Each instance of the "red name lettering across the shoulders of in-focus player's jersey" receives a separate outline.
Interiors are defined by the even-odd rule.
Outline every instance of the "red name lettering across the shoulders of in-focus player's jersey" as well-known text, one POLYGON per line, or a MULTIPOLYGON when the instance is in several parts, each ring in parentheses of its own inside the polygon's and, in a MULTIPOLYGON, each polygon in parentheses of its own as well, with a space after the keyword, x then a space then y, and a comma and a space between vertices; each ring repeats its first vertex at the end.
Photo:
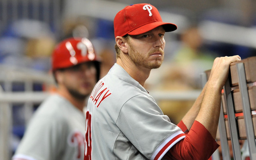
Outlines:
POLYGON ((94 105, 97 105, 96 108, 100 106, 101 102, 104 99, 106 99, 108 96, 112 94, 112 92, 109 93, 110 90, 108 90, 108 87, 104 88, 103 86, 104 82, 99 81, 92 90, 92 93, 90 95, 90 99, 92 100, 94 105))

